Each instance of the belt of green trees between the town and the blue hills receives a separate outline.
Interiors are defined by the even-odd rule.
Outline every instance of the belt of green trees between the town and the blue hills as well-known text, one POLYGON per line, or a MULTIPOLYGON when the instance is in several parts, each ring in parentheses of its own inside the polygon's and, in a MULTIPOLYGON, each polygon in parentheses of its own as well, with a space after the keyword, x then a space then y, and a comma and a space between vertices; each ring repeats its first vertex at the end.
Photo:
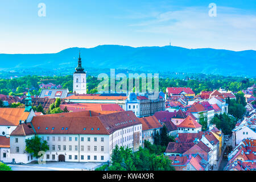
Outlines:
MULTIPOLYGON (((23 96, 23 93, 30 88, 32 95, 39 95, 40 89, 39 85, 42 84, 42 80, 52 80, 53 84, 62 85, 63 88, 68 88, 69 91, 73 90, 73 76, 23 76, 13 79, 0 79, 0 94, 12 95, 12 96, 23 96)), ((122 81, 122 80, 121 80, 122 81)), ((87 76, 87 93, 98 92, 97 86, 101 82, 97 77, 87 76)), ((116 84, 118 81, 115 81, 116 84)), ((128 78, 127 78, 127 88, 128 88, 128 78)), ((47 84, 48 82, 45 82, 47 84)), ((242 77, 225 77, 218 75, 202 75, 195 74, 190 78, 182 79, 175 77, 159 78, 159 89, 163 91, 167 87, 190 87, 196 93, 200 93, 203 90, 213 90, 220 87, 232 90, 233 92, 238 92, 239 90, 246 89, 255 83, 254 78, 242 78, 242 77)), ((110 78, 109 78, 110 84, 110 78)), ((154 81, 153 81, 154 85, 154 81)), ((141 87, 141 84, 140 84, 141 87)))

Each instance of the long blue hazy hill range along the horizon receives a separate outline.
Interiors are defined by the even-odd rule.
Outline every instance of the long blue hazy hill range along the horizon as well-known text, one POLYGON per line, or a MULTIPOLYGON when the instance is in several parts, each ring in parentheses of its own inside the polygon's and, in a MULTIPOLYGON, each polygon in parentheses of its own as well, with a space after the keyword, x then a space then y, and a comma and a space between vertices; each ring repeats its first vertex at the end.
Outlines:
POLYGON ((68 48, 58 53, 1 54, 0 69, 60 69, 77 66, 81 52, 86 68, 119 68, 145 72, 207 73, 224 76, 255 77, 256 51, 187 49, 175 46, 129 47, 104 45, 94 48, 68 48))

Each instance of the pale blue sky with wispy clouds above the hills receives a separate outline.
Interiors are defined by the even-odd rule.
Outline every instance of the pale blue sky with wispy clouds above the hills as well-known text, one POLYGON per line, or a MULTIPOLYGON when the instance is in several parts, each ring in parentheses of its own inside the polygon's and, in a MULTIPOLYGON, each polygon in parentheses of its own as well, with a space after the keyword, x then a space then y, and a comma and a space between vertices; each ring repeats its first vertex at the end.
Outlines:
POLYGON ((0 53, 170 42, 184 48, 256 50, 256 1, 0 0, 0 53))

